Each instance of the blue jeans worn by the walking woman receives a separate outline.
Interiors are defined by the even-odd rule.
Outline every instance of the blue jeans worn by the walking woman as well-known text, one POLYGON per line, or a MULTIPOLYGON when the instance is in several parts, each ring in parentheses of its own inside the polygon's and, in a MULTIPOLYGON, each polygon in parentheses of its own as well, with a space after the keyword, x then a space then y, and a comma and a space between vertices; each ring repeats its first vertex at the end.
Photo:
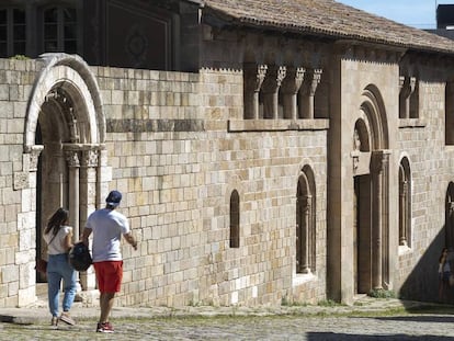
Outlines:
POLYGON ((49 254, 47 263, 47 295, 52 316, 58 316, 61 280, 64 280, 64 311, 69 311, 76 296, 76 271, 68 263, 68 254, 49 254))

